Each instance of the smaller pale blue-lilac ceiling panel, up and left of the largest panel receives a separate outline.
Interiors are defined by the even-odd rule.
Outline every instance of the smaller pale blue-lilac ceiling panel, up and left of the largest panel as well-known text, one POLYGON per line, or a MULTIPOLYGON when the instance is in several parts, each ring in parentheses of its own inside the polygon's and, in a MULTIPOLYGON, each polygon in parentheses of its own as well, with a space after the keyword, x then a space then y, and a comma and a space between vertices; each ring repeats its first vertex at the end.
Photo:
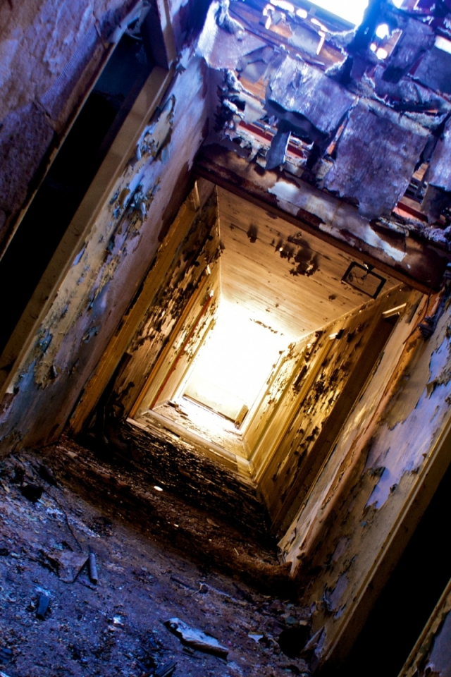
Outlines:
POLYGON ((354 103, 354 96, 319 68, 290 56, 271 78, 266 99, 285 111, 304 116, 326 135, 338 128, 354 103))

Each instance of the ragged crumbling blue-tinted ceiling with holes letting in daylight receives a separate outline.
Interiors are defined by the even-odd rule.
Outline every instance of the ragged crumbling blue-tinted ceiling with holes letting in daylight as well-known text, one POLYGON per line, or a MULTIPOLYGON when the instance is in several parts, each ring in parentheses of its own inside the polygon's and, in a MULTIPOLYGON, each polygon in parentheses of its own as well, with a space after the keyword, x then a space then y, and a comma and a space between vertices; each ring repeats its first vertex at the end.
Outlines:
MULTIPOLYGON (((216 73, 210 76, 211 90, 217 92, 216 128, 209 135, 212 146, 204 152, 208 159, 198 166, 233 182, 230 173, 221 172, 226 164, 248 194, 270 204, 276 196, 273 204, 304 216, 338 240, 338 246, 346 242, 394 262, 423 282, 424 291, 438 289, 449 258, 449 224, 438 219, 449 196, 443 150, 434 148, 437 142, 447 147, 446 133, 444 142, 441 135, 451 107, 438 85, 418 83, 414 66, 440 50, 433 47, 434 31, 422 16, 414 18, 386 3, 371 6, 374 16, 364 20, 357 34, 329 26, 324 49, 312 59, 307 42, 297 41, 294 47, 287 40, 287 32, 299 25, 311 30, 309 20, 303 24, 289 8, 270 11, 257 1, 233 3, 231 16, 241 23, 225 31, 217 25, 218 3, 212 4, 197 49, 216 73), (401 35, 386 61, 369 48, 383 21, 401 35), (366 37, 357 48, 359 32, 366 37), (354 63, 349 76, 348 63, 354 63), (226 151, 242 161, 225 160, 226 151), (213 158, 219 165, 215 169, 209 166, 213 158), (428 191, 422 204, 409 201, 404 195, 409 183, 416 169, 428 163, 426 181, 442 188, 428 191), (262 175, 263 169, 264 193, 259 193, 249 181, 258 184, 256 173, 262 175)), ((447 32, 443 21, 436 26, 440 35, 447 32)))

